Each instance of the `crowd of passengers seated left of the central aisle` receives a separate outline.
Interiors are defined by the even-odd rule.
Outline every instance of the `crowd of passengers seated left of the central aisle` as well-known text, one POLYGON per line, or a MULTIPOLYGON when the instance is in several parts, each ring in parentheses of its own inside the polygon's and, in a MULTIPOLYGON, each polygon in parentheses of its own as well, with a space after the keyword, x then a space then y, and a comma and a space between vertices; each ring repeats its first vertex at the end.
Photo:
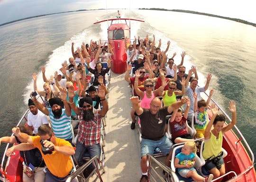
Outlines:
MULTIPOLYGON (((20 150, 23 182, 65 182, 74 172, 71 156, 78 166, 86 162, 85 153, 91 158, 101 156, 101 119, 109 110, 105 75, 113 55, 112 48, 106 45, 91 41, 90 46, 82 43, 74 49, 72 43, 69 62, 64 61, 49 78, 46 67, 41 68, 42 88, 37 87, 37 74, 32 75, 34 92, 28 100, 27 124, 13 128, 14 136, 0 138, 0 143, 18 143, 6 155, 20 150), (43 103, 40 97, 37 100, 39 95, 43 103), (79 120, 77 137, 72 120, 79 120)), ((84 176, 92 170, 93 164, 85 169, 84 176)))

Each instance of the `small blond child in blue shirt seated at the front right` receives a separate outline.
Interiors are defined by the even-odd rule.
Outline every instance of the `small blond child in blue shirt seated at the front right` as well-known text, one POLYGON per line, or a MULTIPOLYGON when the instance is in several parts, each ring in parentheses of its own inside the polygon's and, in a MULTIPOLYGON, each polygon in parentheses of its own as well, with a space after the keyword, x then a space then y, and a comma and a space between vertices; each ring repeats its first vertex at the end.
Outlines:
POLYGON ((182 147, 181 152, 175 156, 174 166, 178 168, 178 173, 184 178, 192 177, 193 180, 197 182, 211 182, 213 174, 204 178, 199 175, 193 167, 195 163, 195 151, 195 142, 187 141, 182 147))

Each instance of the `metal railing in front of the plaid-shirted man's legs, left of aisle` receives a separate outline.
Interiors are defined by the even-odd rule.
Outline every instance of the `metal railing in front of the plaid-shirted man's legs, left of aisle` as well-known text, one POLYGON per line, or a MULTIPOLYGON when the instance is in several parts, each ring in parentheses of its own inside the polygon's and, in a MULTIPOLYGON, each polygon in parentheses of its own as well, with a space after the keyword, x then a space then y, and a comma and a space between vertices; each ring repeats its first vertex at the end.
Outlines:
MULTIPOLYGON (((82 165, 81 167, 79 167, 74 173, 72 173, 67 179, 66 182, 71 182, 74 178, 80 178, 78 179, 79 182, 88 182, 90 177, 92 176, 92 174, 96 171, 97 175, 95 177, 95 179, 93 180, 93 182, 96 182, 98 179, 100 179, 101 182, 103 182, 102 178, 101 178, 101 173, 100 173, 100 159, 98 156, 94 156, 92 157, 87 163, 85 163, 84 165, 82 165), (91 174, 85 178, 83 176, 83 171, 91 164, 94 164, 94 170, 91 172, 91 174)), ((91 180, 91 179, 90 179, 91 180)))

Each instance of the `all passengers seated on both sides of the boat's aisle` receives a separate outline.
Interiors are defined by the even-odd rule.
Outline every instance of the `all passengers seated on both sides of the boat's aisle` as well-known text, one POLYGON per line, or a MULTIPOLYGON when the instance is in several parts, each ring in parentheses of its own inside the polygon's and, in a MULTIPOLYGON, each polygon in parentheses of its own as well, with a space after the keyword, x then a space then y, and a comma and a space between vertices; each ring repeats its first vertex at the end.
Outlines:
MULTIPOLYGON (((134 95, 130 98, 130 127, 135 129, 138 116, 142 135, 140 182, 148 181, 147 153, 153 154, 158 147, 162 154, 168 155, 166 165, 170 166, 171 147, 174 143, 181 142, 186 143, 174 161, 181 176, 192 177, 198 182, 210 182, 223 175, 225 165, 219 154, 223 133, 236 123, 234 101, 229 102, 229 110, 233 115, 229 125, 223 127, 225 117, 218 114, 214 104, 210 107, 212 116, 209 121, 207 109, 213 90, 210 90, 207 101, 201 99, 200 93, 208 89, 210 74, 205 86, 197 87, 196 67, 192 66, 188 74, 185 73, 183 61, 186 53, 182 52, 180 63, 175 64, 176 53, 169 59, 166 55, 170 42, 167 42, 165 51, 161 51, 161 39, 156 47, 154 35, 152 41, 146 36, 144 40, 135 37, 132 43, 125 39, 125 43, 125 80, 133 88, 134 95), (186 125, 187 122, 191 126, 193 114, 197 131, 195 138, 204 137, 205 141, 204 159, 220 157, 218 163, 215 163, 215 160, 207 160, 210 162, 206 167, 211 173, 208 177, 200 176, 193 167, 197 150, 186 125), (167 115, 171 117, 166 119, 167 115), (167 124, 170 125, 172 141, 165 136, 167 124)), ((105 75, 110 70, 112 50, 113 47, 107 42, 102 45, 101 41, 98 44, 91 41, 90 45, 82 43, 81 47, 76 49, 72 43, 73 57, 69 58, 69 62, 65 61, 60 65, 60 69, 52 73, 52 76, 47 78, 46 68, 41 68, 45 82, 43 88, 37 88, 37 74, 32 75, 35 92, 31 93, 31 99, 28 100, 30 113, 27 125, 13 128, 12 137, 0 138, 0 142, 19 143, 10 147, 6 154, 10 156, 14 150, 20 150, 24 159, 23 182, 64 182, 74 171, 70 156, 75 156, 79 166, 85 163, 82 158, 86 152, 90 157, 101 156, 101 119, 109 109, 106 100, 108 80, 105 75), (107 65, 105 68, 103 63, 107 65), (91 75, 94 79, 90 83, 91 75), (43 97, 43 104, 37 101, 36 96, 32 96, 35 93, 43 97), (71 120, 80 121, 76 140, 71 120), (44 147, 53 147, 53 151, 46 154, 44 147), (31 169, 32 175, 29 174, 31 169)), ((93 169, 93 165, 86 168, 85 176, 93 169)))

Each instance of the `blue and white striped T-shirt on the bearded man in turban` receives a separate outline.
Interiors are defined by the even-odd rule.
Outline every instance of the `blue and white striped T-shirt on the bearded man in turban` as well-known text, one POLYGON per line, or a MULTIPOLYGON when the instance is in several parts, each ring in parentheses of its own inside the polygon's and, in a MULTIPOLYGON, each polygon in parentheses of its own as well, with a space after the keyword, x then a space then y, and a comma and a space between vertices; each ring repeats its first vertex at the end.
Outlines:
POLYGON ((62 109, 60 118, 55 118, 52 109, 49 109, 51 127, 55 137, 60 139, 72 139, 72 125, 70 116, 66 115, 65 109, 62 109))

